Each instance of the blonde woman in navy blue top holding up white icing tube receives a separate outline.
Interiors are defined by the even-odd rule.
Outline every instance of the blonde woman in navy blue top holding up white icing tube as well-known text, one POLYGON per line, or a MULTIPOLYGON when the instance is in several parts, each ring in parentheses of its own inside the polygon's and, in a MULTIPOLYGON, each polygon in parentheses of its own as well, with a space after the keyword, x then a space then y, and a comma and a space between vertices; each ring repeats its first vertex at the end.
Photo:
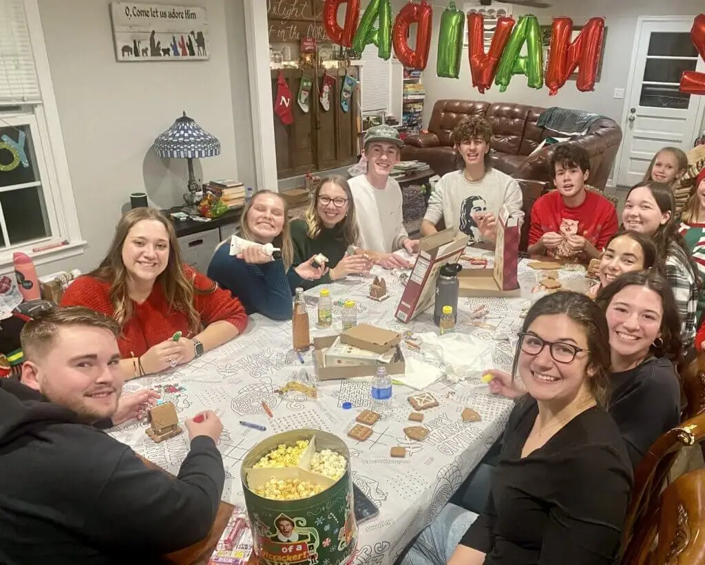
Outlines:
POLYGON ((286 201, 271 190, 256 192, 243 208, 238 235, 262 245, 271 243, 281 252, 268 255, 262 245, 252 245, 233 256, 228 239, 216 247, 208 276, 238 297, 248 315, 259 312, 272 320, 290 320, 293 287, 289 280, 321 278, 325 268, 314 266, 312 256, 291 266, 293 246, 286 201))

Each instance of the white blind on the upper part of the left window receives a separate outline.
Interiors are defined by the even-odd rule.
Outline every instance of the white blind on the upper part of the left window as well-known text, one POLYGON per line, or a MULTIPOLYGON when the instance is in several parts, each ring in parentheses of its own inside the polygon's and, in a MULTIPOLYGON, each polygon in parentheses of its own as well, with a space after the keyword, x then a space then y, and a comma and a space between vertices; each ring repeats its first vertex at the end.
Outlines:
POLYGON ((24 0, 0 0, 0 104, 41 98, 24 0))

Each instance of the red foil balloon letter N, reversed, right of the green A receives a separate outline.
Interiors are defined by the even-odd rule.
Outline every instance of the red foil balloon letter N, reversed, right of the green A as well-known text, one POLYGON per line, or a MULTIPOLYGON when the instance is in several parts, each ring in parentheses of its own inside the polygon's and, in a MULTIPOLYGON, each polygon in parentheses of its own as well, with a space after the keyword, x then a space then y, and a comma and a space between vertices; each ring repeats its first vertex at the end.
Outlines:
POLYGON ((551 47, 548 53, 548 68, 546 68, 546 86, 551 96, 565 85, 565 81, 575 72, 575 68, 578 68, 578 90, 589 92, 595 87, 602 39, 605 35, 605 20, 591 18, 572 43, 570 42, 571 30, 570 18, 553 19, 551 47))

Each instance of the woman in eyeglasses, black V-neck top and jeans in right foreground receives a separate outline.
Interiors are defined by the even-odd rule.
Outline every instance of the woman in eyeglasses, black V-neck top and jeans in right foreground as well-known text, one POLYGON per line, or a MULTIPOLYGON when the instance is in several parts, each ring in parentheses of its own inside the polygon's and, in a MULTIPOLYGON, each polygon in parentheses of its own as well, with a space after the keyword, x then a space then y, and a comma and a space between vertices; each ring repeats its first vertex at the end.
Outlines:
POLYGON ((605 409, 609 366, 608 325, 591 299, 539 299, 512 371, 527 395, 509 416, 484 511, 446 505, 402 563, 613 564, 632 466, 605 409))

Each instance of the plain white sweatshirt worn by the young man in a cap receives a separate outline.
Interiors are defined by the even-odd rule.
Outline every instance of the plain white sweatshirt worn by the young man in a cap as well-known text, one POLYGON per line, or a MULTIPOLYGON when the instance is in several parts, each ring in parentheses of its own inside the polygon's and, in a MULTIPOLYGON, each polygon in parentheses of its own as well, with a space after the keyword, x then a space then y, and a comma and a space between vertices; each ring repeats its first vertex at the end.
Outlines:
POLYGON ((348 180, 355 200, 360 247, 370 251, 391 253, 409 237, 404 228, 402 195, 399 183, 387 179, 383 189, 369 184, 366 175, 348 180))

